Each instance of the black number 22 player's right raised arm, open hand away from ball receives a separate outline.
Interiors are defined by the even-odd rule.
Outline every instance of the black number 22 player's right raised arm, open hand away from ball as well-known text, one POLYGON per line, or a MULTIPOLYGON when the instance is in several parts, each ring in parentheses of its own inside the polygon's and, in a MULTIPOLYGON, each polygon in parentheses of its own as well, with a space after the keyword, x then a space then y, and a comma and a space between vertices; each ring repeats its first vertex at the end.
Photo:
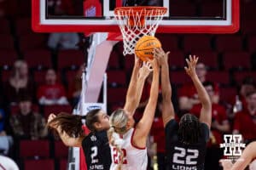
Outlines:
POLYGON ((195 73, 195 65, 197 60, 198 57, 195 57, 195 55, 193 58, 191 55, 189 55, 189 59, 186 59, 188 67, 185 67, 185 71, 193 81, 199 100, 201 101, 200 121, 206 123, 210 129, 212 122, 212 104, 206 89, 203 87, 201 81, 195 73))

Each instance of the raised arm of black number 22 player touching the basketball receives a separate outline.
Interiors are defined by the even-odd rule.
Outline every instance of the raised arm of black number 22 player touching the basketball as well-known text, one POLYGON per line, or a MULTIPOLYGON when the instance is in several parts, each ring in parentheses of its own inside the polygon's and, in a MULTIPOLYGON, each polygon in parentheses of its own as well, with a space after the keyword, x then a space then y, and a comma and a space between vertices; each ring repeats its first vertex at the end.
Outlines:
POLYGON ((168 54, 165 53, 162 48, 155 49, 156 59, 160 64, 160 75, 161 75, 161 89, 163 97, 163 108, 162 118, 164 126, 166 127, 167 122, 175 118, 175 113, 172 105, 172 87, 169 77, 169 65, 168 65, 168 54))

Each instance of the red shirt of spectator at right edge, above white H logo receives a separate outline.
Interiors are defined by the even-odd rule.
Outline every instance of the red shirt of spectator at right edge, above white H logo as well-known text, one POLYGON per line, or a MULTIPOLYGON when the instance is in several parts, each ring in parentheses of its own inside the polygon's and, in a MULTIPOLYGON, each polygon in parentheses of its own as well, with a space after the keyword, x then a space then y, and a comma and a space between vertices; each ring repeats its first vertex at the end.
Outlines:
POLYGON ((243 139, 256 139, 256 112, 250 115, 247 109, 236 113, 234 120, 234 130, 241 133, 243 139))

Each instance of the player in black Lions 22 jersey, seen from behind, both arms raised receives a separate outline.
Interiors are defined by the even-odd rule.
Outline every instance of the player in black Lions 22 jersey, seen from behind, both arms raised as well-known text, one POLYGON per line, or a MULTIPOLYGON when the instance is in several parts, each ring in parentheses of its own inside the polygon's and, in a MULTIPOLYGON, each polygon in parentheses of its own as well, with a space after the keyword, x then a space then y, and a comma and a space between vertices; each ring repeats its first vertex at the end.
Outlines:
POLYGON ((162 118, 166 131, 166 161, 172 170, 202 170, 206 156, 207 140, 212 121, 212 105, 207 91, 195 73, 198 60, 195 56, 186 59, 185 71, 193 81, 202 109, 200 119, 187 113, 180 122, 175 120, 172 105, 172 88, 169 78, 168 54, 156 49, 156 56, 161 65, 162 118))

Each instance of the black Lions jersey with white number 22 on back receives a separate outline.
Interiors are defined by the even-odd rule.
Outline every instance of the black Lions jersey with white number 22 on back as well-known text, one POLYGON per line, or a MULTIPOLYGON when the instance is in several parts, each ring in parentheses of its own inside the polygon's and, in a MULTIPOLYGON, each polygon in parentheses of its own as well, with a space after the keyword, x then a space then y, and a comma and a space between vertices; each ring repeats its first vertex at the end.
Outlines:
POLYGON ((172 119, 166 124, 166 151, 168 170, 203 170, 209 139, 207 124, 201 123, 201 139, 197 144, 178 141, 178 123, 172 119))

